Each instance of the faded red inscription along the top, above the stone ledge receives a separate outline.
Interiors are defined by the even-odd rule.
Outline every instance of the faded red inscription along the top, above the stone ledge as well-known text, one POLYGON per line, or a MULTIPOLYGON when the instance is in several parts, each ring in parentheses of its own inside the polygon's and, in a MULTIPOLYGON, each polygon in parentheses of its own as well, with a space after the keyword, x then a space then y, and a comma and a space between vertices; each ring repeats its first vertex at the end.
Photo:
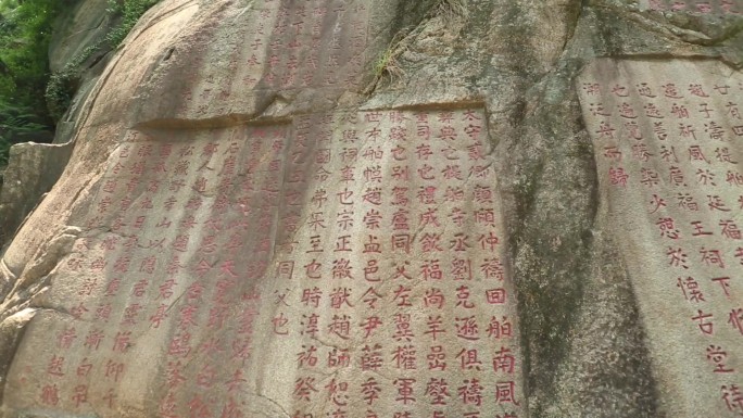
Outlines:
POLYGON ((370 8, 362 0, 252 2, 245 13, 254 18, 236 21, 240 29, 230 28, 224 43, 196 38, 182 47, 198 50, 178 63, 176 79, 189 81, 174 84, 175 105, 158 109, 158 117, 174 110, 191 117, 241 113, 266 91, 354 89, 365 68, 370 8), (225 65, 210 64, 215 60, 225 65), (244 89, 253 93, 234 94, 244 89))

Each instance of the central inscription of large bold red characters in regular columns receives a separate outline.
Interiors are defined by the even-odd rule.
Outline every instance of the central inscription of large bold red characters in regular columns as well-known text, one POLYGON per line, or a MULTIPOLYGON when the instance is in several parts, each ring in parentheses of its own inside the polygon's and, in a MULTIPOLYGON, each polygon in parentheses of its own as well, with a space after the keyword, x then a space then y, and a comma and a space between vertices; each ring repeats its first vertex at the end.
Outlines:
POLYGON ((520 416, 489 147, 479 109, 298 119, 270 329, 293 416, 520 416))

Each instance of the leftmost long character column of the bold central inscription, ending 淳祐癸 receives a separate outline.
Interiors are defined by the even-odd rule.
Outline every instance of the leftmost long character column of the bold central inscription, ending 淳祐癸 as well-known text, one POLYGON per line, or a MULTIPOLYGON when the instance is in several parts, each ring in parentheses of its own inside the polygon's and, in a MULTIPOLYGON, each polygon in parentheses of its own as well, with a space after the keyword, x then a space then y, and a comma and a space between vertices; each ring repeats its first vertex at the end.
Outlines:
MULTIPOLYGON (((292 166, 288 176, 302 176, 305 180, 297 181, 295 187, 304 183, 314 185, 302 192, 300 202, 303 202, 304 211, 299 235, 294 231, 291 245, 299 243, 295 253, 297 274, 295 278, 301 286, 298 295, 292 297, 295 328, 299 332, 300 342, 294 353, 297 367, 300 370, 294 381, 292 397, 301 408, 298 416, 319 416, 315 409, 324 398, 324 384, 322 380, 328 375, 326 363, 326 344, 318 341, 327 340, 328 305, 326 304, 330 281, 328 280, 329 258, 332 254, 331 244, 333 237, 332 219, 330 214, 335 204, 332 195, 333 175, 337 165, 333 162, 330 130, 332 117, 324 114, 305 115, 295 123, 294 143, 292 144, 292 166)), ((290 180, 291 181, 291 180, 290 180)), ((297 207, 299 210, 299 207, 297 207)), ((335 344, 333 344, 335 345, 335 344)), ((338 350, 338 349, 336 349, 338 350)), ((326 387, 327 388, 327 387, 326 387)), ((329 407, 337 407, 332 405, 329 407)))

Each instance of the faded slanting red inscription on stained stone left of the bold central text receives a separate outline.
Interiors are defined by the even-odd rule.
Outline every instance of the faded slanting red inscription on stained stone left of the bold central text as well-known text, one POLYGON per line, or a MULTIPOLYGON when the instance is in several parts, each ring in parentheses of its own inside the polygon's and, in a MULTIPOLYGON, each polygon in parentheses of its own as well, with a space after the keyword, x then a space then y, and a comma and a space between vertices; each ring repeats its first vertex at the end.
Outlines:
POLYGON ((228 408, 252 356, 288 134, 131 132, 54 273, 47 304, 64 316, 43 312, 29 330, 48 351, 14 363, 11 404, 111 417, 228 408), (139 410, 144 396, 162 404, 139 410))

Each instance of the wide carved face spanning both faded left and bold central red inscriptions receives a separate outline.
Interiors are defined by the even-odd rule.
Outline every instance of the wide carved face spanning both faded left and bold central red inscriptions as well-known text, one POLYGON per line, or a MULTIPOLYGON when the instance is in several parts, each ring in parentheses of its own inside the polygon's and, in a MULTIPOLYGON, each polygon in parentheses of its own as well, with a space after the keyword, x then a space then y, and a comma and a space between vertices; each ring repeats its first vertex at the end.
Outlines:
POLYGON ((8 404, 524 416, 489 153, 477 107, 131 132, 52 274, 54 309, 24 339, 8 404))

